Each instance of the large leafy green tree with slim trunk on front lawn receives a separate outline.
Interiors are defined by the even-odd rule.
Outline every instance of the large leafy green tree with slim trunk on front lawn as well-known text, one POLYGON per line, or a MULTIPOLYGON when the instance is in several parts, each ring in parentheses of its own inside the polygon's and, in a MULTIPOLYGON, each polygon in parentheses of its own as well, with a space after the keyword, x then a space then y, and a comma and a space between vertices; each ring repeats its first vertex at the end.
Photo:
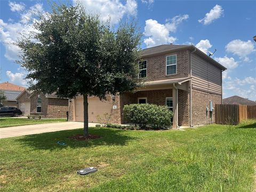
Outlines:
POLYGON ((28 70, 29 89, 58 97, 84 98, 84 136, 88 135, 87 97, 131 91, 139 85, 141 33, 134 22, 110 27, 82 6, 53 5, 36 29, 17 42, 19 63, 28 70))

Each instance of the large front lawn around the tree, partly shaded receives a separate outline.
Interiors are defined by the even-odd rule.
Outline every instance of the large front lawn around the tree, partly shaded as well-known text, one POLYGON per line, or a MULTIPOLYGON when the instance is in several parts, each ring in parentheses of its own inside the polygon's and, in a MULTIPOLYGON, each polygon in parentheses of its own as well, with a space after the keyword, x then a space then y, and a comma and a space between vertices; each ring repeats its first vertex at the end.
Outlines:
POLYGON ((2 191, 253 191, 256 121, 185 131, 92 127, 0 140, 2 191), (64 141, 66 146, 57 145, 64 141), (98 171, 77 175, 94 166, 98 171))

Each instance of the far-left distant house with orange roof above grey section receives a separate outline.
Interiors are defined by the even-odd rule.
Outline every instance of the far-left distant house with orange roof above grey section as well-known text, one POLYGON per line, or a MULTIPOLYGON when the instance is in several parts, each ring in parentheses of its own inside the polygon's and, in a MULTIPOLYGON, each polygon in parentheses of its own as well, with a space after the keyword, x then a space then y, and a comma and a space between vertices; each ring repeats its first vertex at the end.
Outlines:
POLYGON ((0 90, 4 91, 7 98, 3 105, 6 107, 18 107, 16 98, 25 89, 25 87, 9 82, 0 83, 0 90))

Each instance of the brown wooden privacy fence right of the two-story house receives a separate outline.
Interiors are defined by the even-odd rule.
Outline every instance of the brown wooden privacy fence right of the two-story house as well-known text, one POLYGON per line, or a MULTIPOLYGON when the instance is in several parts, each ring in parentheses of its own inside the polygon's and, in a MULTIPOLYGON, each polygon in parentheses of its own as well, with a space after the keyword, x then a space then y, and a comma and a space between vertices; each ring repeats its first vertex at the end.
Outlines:
POLYGON ((256 105, 215 105, 215 123, 237 125, 245 119, 256 119, 256 105))

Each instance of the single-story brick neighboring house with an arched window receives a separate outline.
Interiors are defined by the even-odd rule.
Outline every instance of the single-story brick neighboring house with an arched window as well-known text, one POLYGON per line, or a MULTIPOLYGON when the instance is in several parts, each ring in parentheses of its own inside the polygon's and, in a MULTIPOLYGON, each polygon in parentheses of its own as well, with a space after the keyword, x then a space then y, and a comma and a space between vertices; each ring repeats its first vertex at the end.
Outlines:
POLYGON ((55 94, 42 94, 24 90, 18 97, 18 108, 23 116, 41 115, 45 118, 65 118, 68 99, 58 98, 55 94))

